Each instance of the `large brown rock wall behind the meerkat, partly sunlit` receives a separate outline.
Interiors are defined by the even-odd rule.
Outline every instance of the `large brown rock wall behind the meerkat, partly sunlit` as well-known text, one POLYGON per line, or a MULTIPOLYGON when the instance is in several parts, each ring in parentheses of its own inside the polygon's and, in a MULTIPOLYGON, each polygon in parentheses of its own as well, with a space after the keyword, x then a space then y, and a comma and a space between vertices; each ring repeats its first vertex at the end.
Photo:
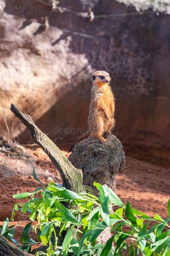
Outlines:
MULTIPOLYGON (((95 15, 136 12, 124 3, 74 0, 68 6, 62 0, 60 6, 87 12, 90 5, 95 15)), ((70 144, 87 129, 91 74, 104 69, 112 76, 115 134, 123 144, 169 145, 169 15, 90 22, 33 0, 0 0, 0 11, 0 135, 5 114, 13 137, 30 138, 9 111, 14 103, 58 145, 70 144), (40 24, 45 16, 47 30, 40 24)))

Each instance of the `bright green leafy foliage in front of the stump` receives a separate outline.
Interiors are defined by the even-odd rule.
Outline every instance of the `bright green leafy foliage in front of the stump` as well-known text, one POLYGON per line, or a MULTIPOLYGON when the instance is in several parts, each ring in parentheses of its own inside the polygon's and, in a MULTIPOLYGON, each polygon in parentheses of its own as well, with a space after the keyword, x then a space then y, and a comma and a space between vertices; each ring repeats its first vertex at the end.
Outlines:
MULTIPOLYGON (((36 176, 35 170, 33 172, 36 176)), ((39 180, 38 180, 39 181, 39 180)), ((14 198, 27 198, 26 203, 15 204, 15 211, 29 213, 31 220, 23 229, 21 245, 14 239, 15 226, 8 228, 8 218, 4 221, 1 234, 12 240, 21 250, 30 251, 35 243, 29 238, 31 226, 37 238, 48 245, 47 253, 37 255, 122 255, 129 256, 166 256, 170 251, 170 217, 162 219, 158 214, 154 218, 133 209, 129 202, 126 206, 121 199, 107 186, 94 183, 99 190, 99 197, 88 193, 76 194, 53 182, 48 187, 40 187, 33 193, 16 194, 14 198), (66 205, 70 205, 68 210, 66 205), (37 224, 32 224, 36 220, 37 224), (56 227, 66 231, 62 246, 57 246, 56 227), (112 237, 105 243, 96 243, 103 230, 110 230, 112 237), (76 232, 75 232, 76 230, 76 232), (55 237, 52 244, 51 235, 55 237), (129 241, 127 243, 127 241, 129 241), (113 247, 113 242, 115 248, 113 247), (127 255, 127 253, 126 253, 127 255)), ((168 203, 170 216, 170 201, 168 203)))

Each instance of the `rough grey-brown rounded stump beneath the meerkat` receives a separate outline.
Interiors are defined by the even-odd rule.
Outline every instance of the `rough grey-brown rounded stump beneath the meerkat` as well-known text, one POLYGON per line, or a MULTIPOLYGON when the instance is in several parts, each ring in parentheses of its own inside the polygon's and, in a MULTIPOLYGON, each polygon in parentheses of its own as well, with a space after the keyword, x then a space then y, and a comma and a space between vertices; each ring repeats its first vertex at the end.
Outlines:
POLYGON ((94 181, 101 185, 107 184, 115 191, 115 173, 124 169, 125 153, 121 142, 114 135, 110 134, 104 144, 89 136, 75 145, 69 161, 82 170, 84 185, 93 188, 98 196, 94 181))

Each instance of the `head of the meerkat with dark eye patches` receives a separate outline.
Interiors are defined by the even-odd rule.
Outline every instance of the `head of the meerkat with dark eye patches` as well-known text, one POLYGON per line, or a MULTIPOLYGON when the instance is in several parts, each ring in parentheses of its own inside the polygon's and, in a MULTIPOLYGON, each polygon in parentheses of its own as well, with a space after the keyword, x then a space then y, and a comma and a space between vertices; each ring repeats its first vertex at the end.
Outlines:
POLYGON ((98 87, 104 84, 108 84, 111 80, 109 73, 103 70, 95 71, 93 73, 92 79, 93 79, 93 84, 98 87))

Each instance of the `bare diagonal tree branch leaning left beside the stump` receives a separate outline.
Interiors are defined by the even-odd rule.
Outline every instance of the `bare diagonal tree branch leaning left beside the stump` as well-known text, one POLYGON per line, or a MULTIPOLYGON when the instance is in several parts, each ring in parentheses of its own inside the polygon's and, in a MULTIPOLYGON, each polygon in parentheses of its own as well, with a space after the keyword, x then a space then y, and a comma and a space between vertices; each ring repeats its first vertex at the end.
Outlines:
POLYGON ((48 136, 35 125, 32 118, 28 114, 23 114, 14 104, 11 104, 10 110, 23 122, 25 126, 27 126, 33 139, 56 166, 63 180, 63 187, 76 193, 80 193, 83 186, 82 171, 76 169, 70 163, 70 161, 63 155, 52 140, 50 140, 48 136))

